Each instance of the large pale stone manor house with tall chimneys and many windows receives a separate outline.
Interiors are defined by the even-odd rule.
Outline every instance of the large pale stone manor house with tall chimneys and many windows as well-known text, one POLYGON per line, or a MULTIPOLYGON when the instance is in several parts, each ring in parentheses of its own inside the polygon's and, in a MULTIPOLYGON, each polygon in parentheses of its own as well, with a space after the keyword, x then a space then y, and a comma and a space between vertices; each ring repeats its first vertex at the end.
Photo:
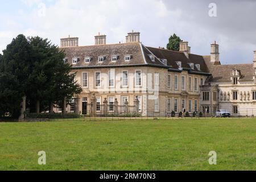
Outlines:
POLYGON ((210 56, 192 54, 188 42, 180 43, 179 52, 147 47, 139 32, 118 44, 106 44, 100 34, 94 46, 79 46, 79 38, 61 39, 64 61, 82 87, 67 111, 90 114, 95 101, 98 114, 106 105, 110 113, 136 107, 142 115, 218 109, 238 114, 244 108, 256 113, 255 52, 254 64, 221 65, 218 44, 211 47, 210 56))

